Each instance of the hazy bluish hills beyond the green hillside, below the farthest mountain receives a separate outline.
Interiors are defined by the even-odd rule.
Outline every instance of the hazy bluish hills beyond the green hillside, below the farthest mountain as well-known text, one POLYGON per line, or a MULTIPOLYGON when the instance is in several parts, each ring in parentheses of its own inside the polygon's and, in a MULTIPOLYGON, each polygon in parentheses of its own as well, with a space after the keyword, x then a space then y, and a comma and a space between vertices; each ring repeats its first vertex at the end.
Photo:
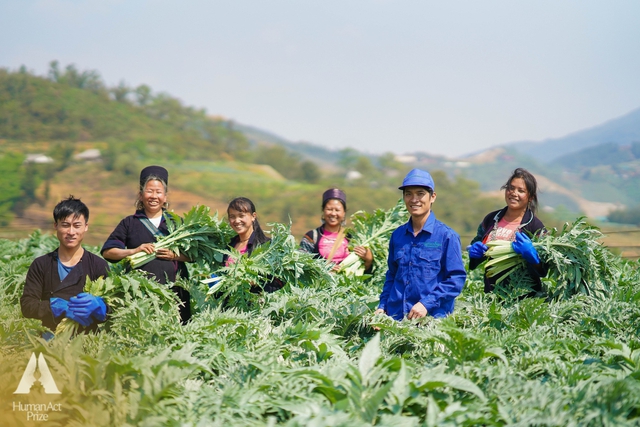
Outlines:
MULTIPOLYGON (((623 122, 627 123, 626 120, 623 122)), ((329 164, 324 167, 335 167, 341 158, 340 152, 311 143, 291 142, 244 125, 239 125, 238 129, 247 132, 250 141, 285 146, 303 157, 329 164)), ((588 145, 548 163, 523 153, 512 144, 498 145, 458 159, 424 152, 407 153, 401 158, 407 168, 439 169, 452 178, 461 176, 476 181, 483 192, 494 196, 515 168, 524 167, 538 177, 541 205, 549 211, 566 212, 562 215, 567 217, 583 213, 604 219, 610 212, 633 207, 640 201, 638 142, 630 145, 596 142, 596 145, 588 145)))

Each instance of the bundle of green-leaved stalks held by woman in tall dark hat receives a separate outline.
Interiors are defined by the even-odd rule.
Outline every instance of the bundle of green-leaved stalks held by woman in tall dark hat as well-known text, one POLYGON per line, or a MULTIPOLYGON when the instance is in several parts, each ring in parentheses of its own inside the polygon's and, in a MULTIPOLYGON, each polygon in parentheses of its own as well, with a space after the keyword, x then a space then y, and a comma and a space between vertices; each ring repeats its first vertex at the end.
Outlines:
MULTIPOLYGON (((201 264, 220 263, 222 255, 219 249, 226 248, 233 236, 228 223, 218 219, 218 213, 209 215, 204 205, 194 206, 180 218, 173 212, 164 213, 167 218, 169 235, 160 237, 154 244, 155 249, 170 249, 176 255, 201 264)), ((155 259, 155 253, 138 252, 127 257, 132 268, 138 268, 155 259)))

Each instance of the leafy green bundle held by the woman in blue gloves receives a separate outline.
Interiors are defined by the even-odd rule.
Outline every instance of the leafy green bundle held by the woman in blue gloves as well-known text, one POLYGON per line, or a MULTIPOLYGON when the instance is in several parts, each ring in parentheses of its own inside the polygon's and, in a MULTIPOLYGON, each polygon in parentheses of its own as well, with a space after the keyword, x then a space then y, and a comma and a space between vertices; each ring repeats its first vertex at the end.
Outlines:
MULTIPOLYGON (((543 291, 549 299, 567 299, 575 294, 608 295, 620 277, 620 258, 599 240, 600 229, 579 217, 562 230, 533 236, 533 246, 548 267, 542 278, 543 291)), ((522 257, 510 242, 497 242, 487 251, 487 276, 502 274, 496 283, 498 293, 519 289, 520 294, 532 290, 533 279, 522 257), (508 279, 508 280, 506 280, 508 279)))

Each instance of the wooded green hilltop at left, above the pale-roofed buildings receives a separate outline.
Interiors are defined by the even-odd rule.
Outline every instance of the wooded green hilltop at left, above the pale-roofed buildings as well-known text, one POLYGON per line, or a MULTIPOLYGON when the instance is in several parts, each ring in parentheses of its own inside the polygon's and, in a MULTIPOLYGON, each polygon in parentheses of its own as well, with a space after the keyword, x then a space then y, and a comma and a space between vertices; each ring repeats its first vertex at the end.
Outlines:
MULTIPOLYGON (((57 61, 46 78, 24 66, 17 72, 0 69, 0 139, 104 141, 106 168, 125 174, 135 170, 136 159, 270 164, 283 154, 279 147, 253 149, 232 121, 210 117, 148 85, 107 87, 97 71, 80 71, 73 64, 61 69, 57 61)), ((284 154, 286 167, 276 169, 285 177, 317 179, 313 162, 284 154)))

